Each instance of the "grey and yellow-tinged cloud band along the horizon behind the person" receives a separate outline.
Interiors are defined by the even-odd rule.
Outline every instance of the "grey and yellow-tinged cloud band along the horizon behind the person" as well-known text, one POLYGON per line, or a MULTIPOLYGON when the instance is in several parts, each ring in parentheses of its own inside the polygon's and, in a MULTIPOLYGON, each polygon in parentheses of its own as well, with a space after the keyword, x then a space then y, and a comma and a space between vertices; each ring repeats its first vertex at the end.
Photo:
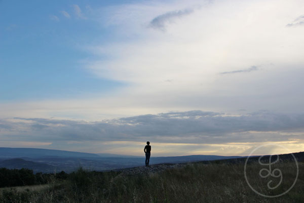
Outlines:
POLYGON ((102 121, 43 118, 0 119, 2 146, 141 155, 247 155, 254 146, 277 143, 301 151, 304 114, 185 111, 102 121), (31 145, 31 143, 34 143, 31 145), (174 152, 174 153, 173 153, 174 152))

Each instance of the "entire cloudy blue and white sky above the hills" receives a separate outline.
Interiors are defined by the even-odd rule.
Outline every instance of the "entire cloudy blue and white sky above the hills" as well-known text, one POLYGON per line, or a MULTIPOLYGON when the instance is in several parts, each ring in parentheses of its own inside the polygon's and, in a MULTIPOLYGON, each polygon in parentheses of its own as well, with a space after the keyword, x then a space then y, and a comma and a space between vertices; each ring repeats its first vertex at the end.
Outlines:
POLYGON ((0 147, 304 151, 304 2, 0 0, 0 147))

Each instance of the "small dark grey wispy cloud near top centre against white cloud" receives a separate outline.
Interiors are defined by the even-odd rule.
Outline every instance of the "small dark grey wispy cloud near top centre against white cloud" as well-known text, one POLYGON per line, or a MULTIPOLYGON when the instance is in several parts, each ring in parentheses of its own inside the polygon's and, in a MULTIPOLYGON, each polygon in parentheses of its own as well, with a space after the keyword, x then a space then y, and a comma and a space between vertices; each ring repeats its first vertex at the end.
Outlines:
POLYGON ((173 23, 175 19, 193 13, 193 9, 184 9, 178 11, 171 11, 163 15, 155 17, 150 21, 149 26, 155 29, 165 30, 166 24, 173 23))

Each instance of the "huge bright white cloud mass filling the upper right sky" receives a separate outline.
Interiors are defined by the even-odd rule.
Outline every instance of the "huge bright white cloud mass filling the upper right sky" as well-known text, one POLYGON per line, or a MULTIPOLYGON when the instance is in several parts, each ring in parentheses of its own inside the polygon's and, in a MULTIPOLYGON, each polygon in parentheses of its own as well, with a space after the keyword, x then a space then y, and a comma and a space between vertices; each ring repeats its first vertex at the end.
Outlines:
POLYGON ((180 20, 173 19, 176 24, 166 26, 166 22, 166 32, 147 29, 147 24, 198 1, 133 1, 92 7, 90 19, 107 34, 95 30, 84 38, 86 43, 78 40, 78 48, 88 53, 80 65, 94 77, 120 81, 124 86, 110 93, 73 95, 74 99, 2 103, 0 117, 94 121, 193 109, 304 112, 304 29, 285 27, 290 16, 303 12, 299 2, 214 1, 180 20), (274 65, 267 65, 271 62, 274 65), (254 64, 263 64, 263 71, 219 74, 254 64))

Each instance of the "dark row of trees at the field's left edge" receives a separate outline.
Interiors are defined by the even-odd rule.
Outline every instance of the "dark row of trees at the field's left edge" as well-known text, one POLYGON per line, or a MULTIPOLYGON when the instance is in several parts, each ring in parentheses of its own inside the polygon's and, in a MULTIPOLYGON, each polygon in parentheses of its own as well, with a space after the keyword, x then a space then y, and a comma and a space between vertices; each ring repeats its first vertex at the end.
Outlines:
POLYGON ((27 168, 0 168, 0 187, 47 184, 52 180, 65 180, 68 174, 64 171, 56 174, 33 173, 27 168))

